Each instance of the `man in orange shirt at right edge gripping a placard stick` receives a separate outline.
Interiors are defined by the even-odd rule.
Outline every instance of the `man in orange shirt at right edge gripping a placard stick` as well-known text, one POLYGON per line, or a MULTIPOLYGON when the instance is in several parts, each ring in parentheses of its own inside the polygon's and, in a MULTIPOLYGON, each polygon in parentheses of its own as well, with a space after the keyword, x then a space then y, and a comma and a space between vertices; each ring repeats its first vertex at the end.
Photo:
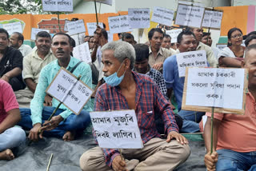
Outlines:
POLYGON ((207 121, 204 139, 207 153, 207 170, 256 170, 256 45, 246 48, 242 68, 249 69, 246 111, 244 115, 235 113, 214 113, 213 153, 210 154, 211 113, 206 113, 207 121))

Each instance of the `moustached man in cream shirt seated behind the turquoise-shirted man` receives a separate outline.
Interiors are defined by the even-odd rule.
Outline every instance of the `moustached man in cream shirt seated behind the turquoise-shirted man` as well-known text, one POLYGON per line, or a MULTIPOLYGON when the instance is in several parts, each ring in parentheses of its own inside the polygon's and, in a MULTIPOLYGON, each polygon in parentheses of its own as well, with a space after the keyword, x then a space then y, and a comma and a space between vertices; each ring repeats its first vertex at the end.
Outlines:
MULTIPOLYGON (((51 37, 46 31, 40 31, 36 35, 36 50, 23 58, 23 79, 26 82, 26 89, 15 92, 19 107, 29 108, 30 101, 34 97, 34 91, 38 84, 39 74, 44 66, 56 58, 50 51, 51 37)), ((46 97, 46 105, 51 105, 51 97, 46 97)))

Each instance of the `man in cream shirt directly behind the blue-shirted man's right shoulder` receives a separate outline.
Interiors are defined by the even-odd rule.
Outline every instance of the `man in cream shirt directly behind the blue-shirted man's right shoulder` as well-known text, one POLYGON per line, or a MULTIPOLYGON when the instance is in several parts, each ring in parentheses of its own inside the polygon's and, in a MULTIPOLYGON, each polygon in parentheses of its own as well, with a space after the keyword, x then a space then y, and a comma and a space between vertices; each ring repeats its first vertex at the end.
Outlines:
POLYGON ((211 50, 210 46, 207 46, 206 44, 202 43, 202 29, 199 28, 186 28, 186 30, 190 30, 194 33, 195 38, 197 39, 197 49, 196 50, 206 50, 206 58, 207 62, 211 67, 216 68, 218 66, 218 61, 214 57, 214 52, 211 50))

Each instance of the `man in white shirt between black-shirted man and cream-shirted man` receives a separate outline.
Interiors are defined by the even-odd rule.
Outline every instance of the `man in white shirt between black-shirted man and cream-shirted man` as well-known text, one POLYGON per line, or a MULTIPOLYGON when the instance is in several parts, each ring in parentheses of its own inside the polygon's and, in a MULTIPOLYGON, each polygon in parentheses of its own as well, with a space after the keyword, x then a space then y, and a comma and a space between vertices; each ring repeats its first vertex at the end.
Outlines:
POLYGON ((30 54, 32 48, 28 45, 24 45, 24 37, 21 33, 14 32, 10 35, 10 46, 19 50, 22 53, 23 57, 26 57, 27 54, 30 54))

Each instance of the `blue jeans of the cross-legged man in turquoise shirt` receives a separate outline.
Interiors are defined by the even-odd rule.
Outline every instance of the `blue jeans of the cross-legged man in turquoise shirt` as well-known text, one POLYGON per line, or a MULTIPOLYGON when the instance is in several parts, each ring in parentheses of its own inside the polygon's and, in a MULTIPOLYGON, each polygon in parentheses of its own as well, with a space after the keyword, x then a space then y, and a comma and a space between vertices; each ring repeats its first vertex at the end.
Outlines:
MULTIPOLYGON (((42 124, 47 121, 50 115, 54 112, 54 107, 45 106, 42 109, 42 124)), ((54 116, 62 113, 63 109, 58 109, 54 116)), ((22 126, 23 129, 30 130, 33 128, 32 121, 30 118, 31 112, 29 108, 20 108, 20 112, 22 115, 22 120, 18 122, 18 125, 22 126)), ((70 114, 66 120, 61 121, 53 130, 44 131, 42 133, 43 136, 46 137, 63 137, 66 131, 76 131, 77 133, 81 133, 83 129, 86 129, 86 126, 90 124, 90 114, 86 110, 81 111, 79 115, 75 115, 74 113, 70 114)))

